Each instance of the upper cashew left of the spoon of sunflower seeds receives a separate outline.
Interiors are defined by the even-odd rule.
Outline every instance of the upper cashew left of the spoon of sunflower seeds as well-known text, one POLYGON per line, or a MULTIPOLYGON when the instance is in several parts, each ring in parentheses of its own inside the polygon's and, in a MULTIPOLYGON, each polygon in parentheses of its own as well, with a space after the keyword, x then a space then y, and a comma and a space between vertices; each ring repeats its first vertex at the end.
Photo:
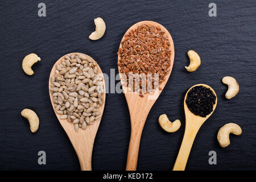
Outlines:
POLYGON ((40 60, 41 60, 40 57, 38 57, 38 55, 36 55, 35 53, 31 53, 31 54, 27 55, 26 57, 24 57, 24 59, 22 61, 23 71, 27 75, 33 75, 34 71, 32 71, 31 67, 33 64, 35 64, 36 62, 38 62, 40 60))

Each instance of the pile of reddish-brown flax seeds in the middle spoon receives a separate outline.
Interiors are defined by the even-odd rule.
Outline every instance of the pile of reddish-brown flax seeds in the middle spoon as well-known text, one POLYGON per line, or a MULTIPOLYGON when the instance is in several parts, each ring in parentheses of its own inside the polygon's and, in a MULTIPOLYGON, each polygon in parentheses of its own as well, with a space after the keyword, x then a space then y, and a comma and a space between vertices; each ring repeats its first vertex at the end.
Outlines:
MULTIPOLYGON (((139 80, 139 92, 142 93, 143 82, 151 82, 152 89, 157 84, 154 84, 154 74, 158 73, 158 83, 161 84, 166 78, 164 76, 170 72, 171 65, 171 50, 170 42, 164 31, 159 27, 143 24, 135 30, 131 30, 125 35, 125 40, 121 43, 121 48, 118 50, 120 59, 118 66, 121 73, 127 77, 127 84, 129 84, 129 74, 133 77, 138 77, 136 73, 146 75, 146 79, 139 80), (150 73, 150 78, 147 74, 150 73), (150 81, 148 81, 150 79, 150 81)), ((131 79, 133 79, 133 77, 131 79)), ((133 90, 134 84, 132 86, 133 90)), ((148 93, 148 90, 147 92, 148 93)))

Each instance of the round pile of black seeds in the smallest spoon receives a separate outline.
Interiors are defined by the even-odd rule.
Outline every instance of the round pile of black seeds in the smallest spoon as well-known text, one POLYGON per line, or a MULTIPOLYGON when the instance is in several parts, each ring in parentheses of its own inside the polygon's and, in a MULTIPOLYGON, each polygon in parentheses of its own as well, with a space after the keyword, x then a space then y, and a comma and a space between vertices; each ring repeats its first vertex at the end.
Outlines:
POLYGON ((189 90, 186 104, 193 114, 206 117, 208 114, 212 113, 215 101, 216 96, 213 94, 212 90, 200 85, 189 90))

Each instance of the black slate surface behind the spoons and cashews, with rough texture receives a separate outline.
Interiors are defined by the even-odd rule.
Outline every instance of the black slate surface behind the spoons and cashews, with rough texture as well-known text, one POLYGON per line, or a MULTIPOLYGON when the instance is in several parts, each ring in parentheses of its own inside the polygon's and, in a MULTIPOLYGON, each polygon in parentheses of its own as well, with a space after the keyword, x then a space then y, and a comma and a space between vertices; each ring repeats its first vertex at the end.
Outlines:
MULTIPOLYGON (((117 50, 123 34, 134 23, 154 20, 170 31, 175 45, 175 62, 170 80, 152 107, 144 126, 138 170, 170 170, 183 138, 185 118, 183 98, 188 88, 204 83, 212 86, 218 105, 201 127, 187 163, 187 170, 255 170, 255 1, 213 1, 217 17, 208 16, 212 1, 2 1, 0 6, 0 169, 79 170, 79 160, 53 112, 48 94, 48 77, 59 57, 69 52, 92 56, 102 71, 117 74, 117 50), (44 2, 47 16, 38 16, 44 2), (90 41, 93 19, 102 17, 106 32, 90 41), (187 51, 199 53, 202 64, 193 73, 187 51), (42 61, 27 76, 23 57, 38 54, 42 61), (221 78, 233 76, 240 93, 225 99, 227 86, 221 78), (32 134, 20 115, 25 107, 40 118, 39 130, 32 134), (166 113, 179 118, 176 133, 164 132, 158 117, 166 113), (234 122, 243 134, 231 137, 231 145, 221 148, 217 132, 234 122), (47 165, 38 164, 38 151, 46 151, 47 165), (208 164, 208 152, 217 152, 217 165, 208 164)), ((124 170, 130 138, 130 120, 125 96, 106 94, 106 105, 94 143, 94 170, 124 170)))

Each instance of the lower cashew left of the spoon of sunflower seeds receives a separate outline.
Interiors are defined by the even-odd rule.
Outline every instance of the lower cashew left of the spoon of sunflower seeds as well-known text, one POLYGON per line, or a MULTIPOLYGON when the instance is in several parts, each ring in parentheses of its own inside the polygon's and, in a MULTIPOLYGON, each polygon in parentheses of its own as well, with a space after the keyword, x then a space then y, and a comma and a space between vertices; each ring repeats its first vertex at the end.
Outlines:
POLYGON ((32 133, 35 133, 39 127, 39 118, 38 115, 31 109, 23 109, 21 112, 22 116, 28 119, 30 122, 30 130, 32 133))

